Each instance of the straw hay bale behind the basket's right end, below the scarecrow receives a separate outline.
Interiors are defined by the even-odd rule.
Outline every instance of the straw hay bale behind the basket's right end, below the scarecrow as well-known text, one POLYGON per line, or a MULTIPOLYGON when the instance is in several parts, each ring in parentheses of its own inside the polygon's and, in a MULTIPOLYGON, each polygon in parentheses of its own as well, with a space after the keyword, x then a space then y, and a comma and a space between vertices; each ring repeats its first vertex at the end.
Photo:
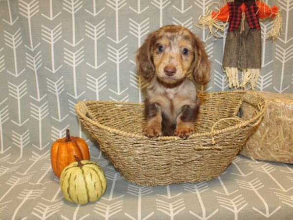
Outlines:
MULTIPOLYGON (((267 98, 268 109, 240 154, 251 159, 293 163, 293 94, 259 93, 267 98)), ((250 118, 253 111, 244 104, 242 118, 250 118)))

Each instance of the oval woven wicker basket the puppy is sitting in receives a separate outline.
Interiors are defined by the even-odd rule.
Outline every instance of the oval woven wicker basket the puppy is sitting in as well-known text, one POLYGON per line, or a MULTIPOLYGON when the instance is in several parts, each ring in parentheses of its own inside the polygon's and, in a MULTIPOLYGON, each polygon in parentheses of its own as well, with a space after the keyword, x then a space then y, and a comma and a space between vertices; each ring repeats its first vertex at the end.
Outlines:
POLYGON ((142 134, 144 105, 84 101, 75 109, 84 127, 121 175, 139 185, 206 181, 230 165, 266 110, 255 92, 203 93, 196 131, 184 140, 176 136, 148 138, 142 134), (255 108, 249 120, 237 117, 242 103, 255 108))

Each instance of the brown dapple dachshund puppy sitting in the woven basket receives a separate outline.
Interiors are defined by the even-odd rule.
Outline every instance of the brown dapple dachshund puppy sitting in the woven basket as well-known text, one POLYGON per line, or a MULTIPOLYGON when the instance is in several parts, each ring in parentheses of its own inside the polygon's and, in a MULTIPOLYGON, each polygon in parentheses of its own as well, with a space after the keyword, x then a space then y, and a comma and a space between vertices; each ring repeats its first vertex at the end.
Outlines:
POLYGON ((193 82, 209 82, 210 62, 203 43, 187 28, 163 26, 149 34, 136 55, 138 71, 150 81, 145 100, 148 137, 193 133, 199 99, 193 82))

